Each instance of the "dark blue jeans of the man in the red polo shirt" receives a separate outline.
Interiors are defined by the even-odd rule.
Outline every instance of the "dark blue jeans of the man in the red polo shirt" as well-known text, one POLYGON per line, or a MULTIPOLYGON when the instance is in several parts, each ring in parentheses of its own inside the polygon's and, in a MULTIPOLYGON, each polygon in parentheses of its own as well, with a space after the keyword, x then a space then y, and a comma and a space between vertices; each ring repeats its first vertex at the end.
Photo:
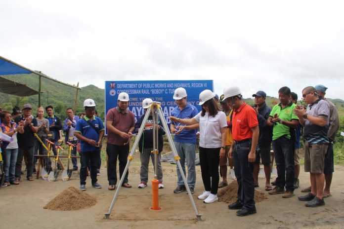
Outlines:
POLYGON ((255 182, 253 163, 249 162, 251 141, 235 144, 233 149, 234 172, 238 182, 238 200, 246 209, 255 206, 255 182))

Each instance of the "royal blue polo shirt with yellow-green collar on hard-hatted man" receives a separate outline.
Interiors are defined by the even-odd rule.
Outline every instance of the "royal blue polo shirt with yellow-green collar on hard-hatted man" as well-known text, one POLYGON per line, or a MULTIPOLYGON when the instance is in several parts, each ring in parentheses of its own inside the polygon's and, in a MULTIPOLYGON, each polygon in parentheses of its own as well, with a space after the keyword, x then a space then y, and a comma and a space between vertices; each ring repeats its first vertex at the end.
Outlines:
MULTIPOLYGON (((99 134, 97 134, 97 132, 93 129, 93 127, 87 123, 87 121, 90 119, 87 118, 86 116, 84 116, 84 118, 81 118, 78 120, 74 132, 81 133, 81 135, 83 135, 85 138, 92 139, 92 140, 98 142, 99 134)), ((95 126, 95 128, 99 130, 99 132, 104 131, 103 121, 99 117, 96 117, 93 115, 93 119, 90 121, 95 126)), ((99 150, 98 148, 91 146, 82 140, 80 140, 80 145, 81 145, 81 152, 89 152, 89 151, 98 151, 99 150)))

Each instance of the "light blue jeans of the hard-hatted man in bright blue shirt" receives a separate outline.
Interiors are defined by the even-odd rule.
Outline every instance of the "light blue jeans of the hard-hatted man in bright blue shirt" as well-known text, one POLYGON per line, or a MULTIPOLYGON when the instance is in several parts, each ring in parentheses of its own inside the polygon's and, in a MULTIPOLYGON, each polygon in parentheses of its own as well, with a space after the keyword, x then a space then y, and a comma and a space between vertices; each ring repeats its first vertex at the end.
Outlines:
MULTIPOLYGON (((183 173, 186 177, 185 172, 185 160, 187 164, 187 185, 189 188, 195 188, 196 183, 196 167, 195 167, 195 158, 196 158, 196 144, 193 143, 180 143, 174 142, 175 149, 177 150, 178 156, 180 157, 180 165, 183 169, 183 173)), ((177 176, 178 182, 177 185, 184 185, 183 178, 181 177, 179 167, 177 166, 177 176)))

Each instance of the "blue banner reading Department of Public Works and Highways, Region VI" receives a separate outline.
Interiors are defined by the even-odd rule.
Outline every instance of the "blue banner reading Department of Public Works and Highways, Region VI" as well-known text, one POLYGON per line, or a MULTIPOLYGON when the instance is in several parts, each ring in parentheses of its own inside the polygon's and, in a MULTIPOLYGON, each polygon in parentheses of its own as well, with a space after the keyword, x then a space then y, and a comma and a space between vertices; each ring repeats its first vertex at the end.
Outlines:
POLYGON ((213 91, 213 80, 150 80, 150 81, 105 81, 105 114, 114 107, 117 107, 118 95, 121 92, 129 94, 129 110, 135 114, 135 121, 144 111, 142 101, 150 98, 160 102, 167 123, 170 124, 172 110, 176 107, 173 99, 174 90, 183 87, 187 93, 187 102, 194 105, 198 111, 199 94, 209 89, 213 91))

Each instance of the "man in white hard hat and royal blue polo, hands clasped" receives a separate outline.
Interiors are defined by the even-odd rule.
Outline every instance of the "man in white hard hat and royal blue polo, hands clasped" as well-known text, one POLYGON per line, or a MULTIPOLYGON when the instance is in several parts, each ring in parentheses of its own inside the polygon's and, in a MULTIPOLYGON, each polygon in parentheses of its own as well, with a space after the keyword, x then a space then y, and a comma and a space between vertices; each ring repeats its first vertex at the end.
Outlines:
POLYGON ((97 162, 101 149, 101 140, 104 136, 103 121, 94 116, 95 103, 92 99, 84 101, 86 115, 79 119, 75 127, 74 135, 80 140, 81 144, 81 168, 80 168, 80 190, 86 191, 87 164, 91 164, 92 186, 100 189, 97 183, 97 162))

